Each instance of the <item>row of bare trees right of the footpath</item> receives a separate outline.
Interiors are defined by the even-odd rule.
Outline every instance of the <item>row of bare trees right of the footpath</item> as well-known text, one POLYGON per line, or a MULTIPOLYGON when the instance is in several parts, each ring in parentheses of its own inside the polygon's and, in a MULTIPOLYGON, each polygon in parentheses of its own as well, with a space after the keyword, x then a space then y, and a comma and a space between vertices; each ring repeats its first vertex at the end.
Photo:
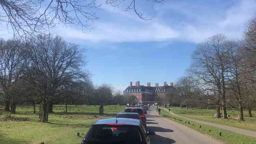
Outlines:
POLYGON ((169 93, 171 104, 215 107, 217 117, 228 118, 227 108, 243 110, 256 106, 256 17, 248 21, 243 39, 230 40, 216 34, 201 42, 192 55, 188 76, 181 77, 169 93))

